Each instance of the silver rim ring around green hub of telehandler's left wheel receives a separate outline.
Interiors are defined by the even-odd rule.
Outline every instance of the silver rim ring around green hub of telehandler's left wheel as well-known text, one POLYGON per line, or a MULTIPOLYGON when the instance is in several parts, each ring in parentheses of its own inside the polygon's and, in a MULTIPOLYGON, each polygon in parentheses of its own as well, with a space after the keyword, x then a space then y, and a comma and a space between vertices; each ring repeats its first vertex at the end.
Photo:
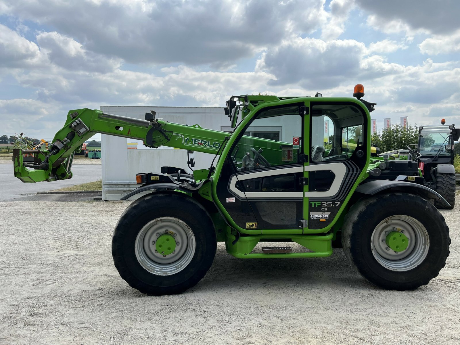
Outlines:
POLYGON ((171 276, 190 264, 196 242, 193 231, 185 222, 173 217, 160 217, 144 225, 134 247, 136 258, 145 270, 157 276, 171 276), (155 249, 155 242, 162 234, 172 235, 178 243, 175 251, 166 256, 155 249))

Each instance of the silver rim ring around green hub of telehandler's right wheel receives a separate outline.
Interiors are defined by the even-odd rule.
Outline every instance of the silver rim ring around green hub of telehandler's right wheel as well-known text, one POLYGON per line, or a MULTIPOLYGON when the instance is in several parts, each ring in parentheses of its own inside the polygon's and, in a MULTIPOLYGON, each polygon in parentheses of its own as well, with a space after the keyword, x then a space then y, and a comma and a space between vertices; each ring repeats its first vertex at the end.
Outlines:
POLYGON ((407 271, 420 265, 430 249, 430 237, 417 219, 403 214, 382 220, 371 236, 371 250, 377 262, 393 271, 407 271), (395 252, 385 242, 391 231, 399 231, 408 238, 408 247, 395 252), (390 250, 388 250, 390 249, 390 250))

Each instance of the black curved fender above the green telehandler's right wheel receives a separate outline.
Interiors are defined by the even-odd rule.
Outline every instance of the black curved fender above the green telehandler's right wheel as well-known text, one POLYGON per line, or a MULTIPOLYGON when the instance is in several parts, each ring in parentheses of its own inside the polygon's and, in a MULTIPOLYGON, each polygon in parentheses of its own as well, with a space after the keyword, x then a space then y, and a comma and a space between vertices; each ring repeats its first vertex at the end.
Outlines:
POLYGON ((356 189, 358 193, 374 195, 383 191, 399 191, 405 193, 412 193, 421 196, 424 199, 437 199, 443 201, 447 206, 450 206, 439 193, 431 188, 421 184, 404 181, 391 181, 391 180, 374 180, 367 183, 360 184, 356 189))

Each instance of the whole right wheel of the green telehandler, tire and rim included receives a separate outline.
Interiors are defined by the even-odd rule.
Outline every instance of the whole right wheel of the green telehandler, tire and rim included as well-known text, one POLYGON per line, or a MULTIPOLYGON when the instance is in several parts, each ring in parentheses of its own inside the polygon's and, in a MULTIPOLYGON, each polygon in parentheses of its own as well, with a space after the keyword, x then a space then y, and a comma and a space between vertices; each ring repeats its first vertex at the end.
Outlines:
POLYGON ((449 256, 443 216, 419 196, 371 196, 351 207, 342 227, 344 252, 369 282, 389 290, 426 285, 449 256))

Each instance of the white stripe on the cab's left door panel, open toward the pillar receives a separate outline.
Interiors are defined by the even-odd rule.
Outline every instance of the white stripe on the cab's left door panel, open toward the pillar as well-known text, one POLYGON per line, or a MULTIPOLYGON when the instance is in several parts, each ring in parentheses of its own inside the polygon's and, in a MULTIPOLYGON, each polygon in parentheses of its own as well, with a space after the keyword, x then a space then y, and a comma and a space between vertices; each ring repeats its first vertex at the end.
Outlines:
MULTIPOLYGON (((247 173, 238 175, 240 181, 251 180, 253 178, 262 178, 267 176, 275 176, 275 175, 284 175, 289 173, 301 173, 304 170, 304 167, 288 167, 288 168, 281 168, 281 169, 274 169, 274 170, 265 170, 265 171, 258 171, 254 173, 247 173)), ((236 182, 238 182, 238 178, 236 176, 232 176, 230 179, 230 191, 234 193, 236 196, 240 198, 301 198, 303 197, 303 192, 247 192, 246 195, 236 188, 236 182)))

